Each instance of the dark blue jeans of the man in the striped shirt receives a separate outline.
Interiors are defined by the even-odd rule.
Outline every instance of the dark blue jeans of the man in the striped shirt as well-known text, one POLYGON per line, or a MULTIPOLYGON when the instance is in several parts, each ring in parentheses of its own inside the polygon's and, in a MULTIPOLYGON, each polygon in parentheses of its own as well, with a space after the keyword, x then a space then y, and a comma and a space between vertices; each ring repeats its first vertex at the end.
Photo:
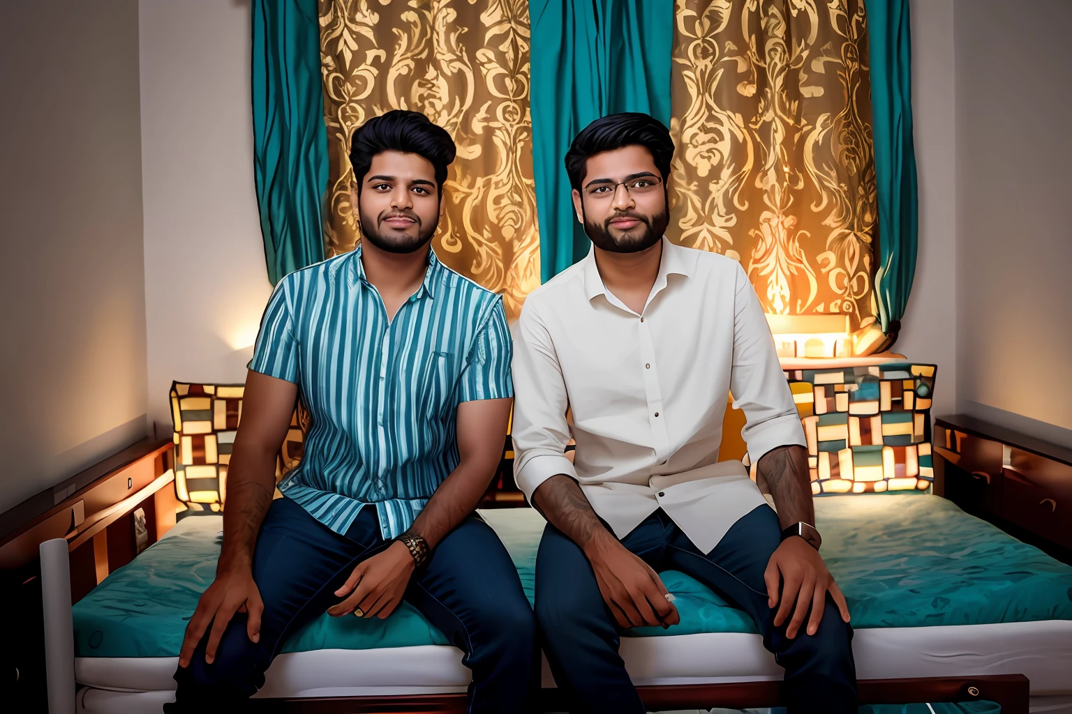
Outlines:
MULTIPOLYGON (((264 685, 286 636, 338 603, 334 591, 354 566, 388 544, 375 507, 362 508, 342 536, 294 501, 272 501, 253 553, 253 579, 265 604, 260 641, 250 641, 245 616, 236 616, 208 665, 206 633, 190 666, 175 673, 176 703, 167 711, 204 714, 222 711, 221 703, 236 711, 264 685)), ((465 653, 473 670, 470 712, 524 711, 538 686, 536 622, 490 526, 470 517, 451 531, 414 572, 405 597, 465 653)))

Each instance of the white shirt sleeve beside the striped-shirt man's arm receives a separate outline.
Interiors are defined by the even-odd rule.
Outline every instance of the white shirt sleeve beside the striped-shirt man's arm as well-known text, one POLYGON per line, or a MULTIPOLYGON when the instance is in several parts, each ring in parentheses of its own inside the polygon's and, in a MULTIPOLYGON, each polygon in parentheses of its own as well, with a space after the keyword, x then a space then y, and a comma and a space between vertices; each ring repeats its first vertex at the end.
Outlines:
POLYGON ((513 476, 532 502, 533 492, 551 476, 577 478, 565 456, 569 443, 568 397, 554 344, 533 301, 518 321, 513 352, 513 476))

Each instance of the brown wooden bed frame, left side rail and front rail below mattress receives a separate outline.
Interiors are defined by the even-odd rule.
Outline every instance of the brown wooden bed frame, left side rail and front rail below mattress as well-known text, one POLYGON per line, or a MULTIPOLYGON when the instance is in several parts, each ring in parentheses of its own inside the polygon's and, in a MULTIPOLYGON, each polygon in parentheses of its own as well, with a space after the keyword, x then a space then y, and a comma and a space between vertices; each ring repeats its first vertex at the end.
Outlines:
MULTIPOLYGON (((32 583, 40 574, 40 544, 64 538, 70 553, 71 602, 77 602, 108 573, 136 556, 133 514, 137 508, 146 514, 149 543, 154 543, 175 525, 179 503, 172 487, 170 460, 170 440, 146 439, 51 489, 51 493, 58 495, 54 496, 51 507, 43 512, 39 507, 39 513, 0 538, 0 571, 9 581, 29 575, 23 584, 32 583)), ((500 501, 505 502, 494 505, 523 505, 512 503, 512 499, 500 501)), ((0 522, 0 528, 3 526, 0 522)), ((43 683, 45 663, 29 666, 27 679, 43 683), (40 671, 32 669, 34 667, 40 671)), ((73 681, 73 663, 71 668, 73 681)), ((40 705, 44 687, 33 688, 35 703, 40 705)), ((781 702, 780 688, 780 682, 743 682, 641 686, 638 690, 649 710, 660 710, 773 707, 781 702)), ((544 711, 562 711, 556 689, 544 689, 540 696, 544 711)), ((865 703, 987 699, 1001 704, 1004 714, 1027 714, 1029 683, 1023 674, 865 680, 860 682, 860 697, 865 703)), ((465 711, 465 696, 461 694, 254 699, 253 702, 255 711, 287 714, 460 714, 465 711)))

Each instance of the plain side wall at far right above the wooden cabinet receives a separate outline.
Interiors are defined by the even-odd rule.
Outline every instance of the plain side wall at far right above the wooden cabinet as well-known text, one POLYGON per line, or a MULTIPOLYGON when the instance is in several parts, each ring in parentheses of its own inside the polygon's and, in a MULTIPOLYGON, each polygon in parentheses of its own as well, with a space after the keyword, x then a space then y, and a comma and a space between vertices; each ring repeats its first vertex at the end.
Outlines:
POLYGON ((1068 0, 956 0, 957 400, 1068 446, 1070 27, 1068 0))

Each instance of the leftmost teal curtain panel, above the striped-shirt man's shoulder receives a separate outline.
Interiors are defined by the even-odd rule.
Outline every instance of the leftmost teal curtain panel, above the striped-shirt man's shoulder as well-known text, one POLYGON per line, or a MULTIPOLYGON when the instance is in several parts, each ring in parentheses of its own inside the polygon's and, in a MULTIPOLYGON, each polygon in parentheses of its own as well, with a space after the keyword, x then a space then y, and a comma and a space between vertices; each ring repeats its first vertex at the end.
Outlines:
POLYGON ((254 176, 272 285, 324 259, 322 92, 317 0, 254 0, 254 176))

